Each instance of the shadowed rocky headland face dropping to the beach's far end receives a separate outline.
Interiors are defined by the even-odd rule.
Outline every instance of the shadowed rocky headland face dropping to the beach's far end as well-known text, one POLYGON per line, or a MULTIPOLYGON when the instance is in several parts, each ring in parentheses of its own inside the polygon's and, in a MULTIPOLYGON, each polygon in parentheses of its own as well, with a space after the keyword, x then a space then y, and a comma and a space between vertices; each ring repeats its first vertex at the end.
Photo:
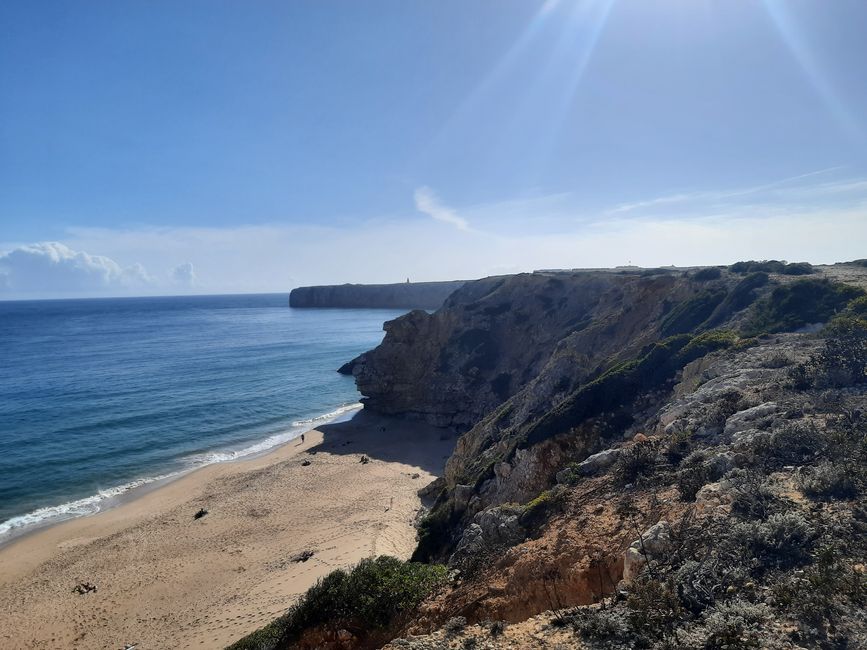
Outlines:
MULTIPOLYGON (((737 282, 712 283, 717 303, 720 287, 737 282)), ((661 336, 674 305, 708 291, 707 282, 682 273, 487 278, 464 285, 434 314, 413 312, 386 323, 382 345, 345 370, 365 405, 381 413, 465 431, 522 393, 509 420, 526 420, 605 364, 632 358, 661 336)), ((701 316, 716 306, 704 306, 701 316)))

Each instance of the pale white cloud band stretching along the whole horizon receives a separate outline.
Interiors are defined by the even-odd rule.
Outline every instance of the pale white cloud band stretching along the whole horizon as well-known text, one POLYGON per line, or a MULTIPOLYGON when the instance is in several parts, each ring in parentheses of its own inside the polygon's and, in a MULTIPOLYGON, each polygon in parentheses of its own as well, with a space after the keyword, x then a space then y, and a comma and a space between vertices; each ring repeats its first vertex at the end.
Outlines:
MULTIPOLYGON (((65 276, 57 277, 57 269, 74 267, 74 260, 68 258, 76 256, 89 260, 82 262, 85 268, 96 267, 86 274, 88 283, 76 285, 82 295, 287 292, 306 284, 401 282, 407 276, 413 281, 470 279, 630 262, 689 266, 742 259, 829 263, 864 257, 867 183, 821 180, 791 183, 785 195, 775 187, 773 196, 764 193, 761 200, 756 193, 727 191, 710 200, 693 198, 634 212, 602 208, 595 216, 581 206, 578 195, 461 206, 458 212, 467 217, 463 221, 473 227, 462 230, 459 237, 451 228, 443 228, 441 220, 406 219, 405 215, 357 221, 348 227, 274 223, 228 228, 77 228, 59 245, 7 245, 7 250, 20 252, 0 255, 0 295, 11 297, 13 290, 27 297, 70 295, 68 289, 62 290, 65 276), (38 261, 39 272, 30 273, 19 260, 24 251, 30 251, 28 263, 38 261), (75 251, 99 251, 107 257, 75 251), (53 262, 52 255, 60 261, 53 262), (15 264, 10 266, 10 259, 15 264), (132 262, 166 271, 148 276, 142 267, 130 266, 132 262), (53 275, 43 267, 52 269, 53 275), (26 273, 30 273, 27 281, 26 273), (135 277, 149 277, 150 282, 132 286, 129 278, 135 277)), ((436 200, 434 204, 442 208, 436 200)), ((455 211, 444 209, 456 216, 455 211)))

